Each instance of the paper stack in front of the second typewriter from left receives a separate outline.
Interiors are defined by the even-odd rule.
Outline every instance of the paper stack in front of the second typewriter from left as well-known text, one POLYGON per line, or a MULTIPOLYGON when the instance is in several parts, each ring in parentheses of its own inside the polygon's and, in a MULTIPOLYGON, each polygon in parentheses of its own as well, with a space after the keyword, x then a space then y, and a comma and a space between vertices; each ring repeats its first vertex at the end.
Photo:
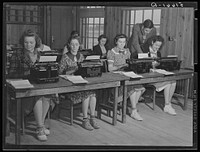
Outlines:
POLYGON ((74 84, 86 84, 86 83, 88 83, 88 81, 83 79, 83 77, 80 76, 80 75, 77 75, 77 76, 74 76, 74 75, 60 75, 60 77, 66 79, 66 80, 69 80, 74 84))

